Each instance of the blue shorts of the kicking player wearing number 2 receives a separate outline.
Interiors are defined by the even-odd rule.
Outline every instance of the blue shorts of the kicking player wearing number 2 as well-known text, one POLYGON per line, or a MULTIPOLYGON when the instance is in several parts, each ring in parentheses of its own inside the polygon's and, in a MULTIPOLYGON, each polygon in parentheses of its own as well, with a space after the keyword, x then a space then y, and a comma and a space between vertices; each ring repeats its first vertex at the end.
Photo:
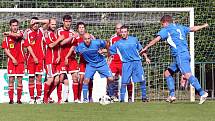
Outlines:
POLYGON ((190 73, 190 55, 185 53, 174 57, 173 62, 168 68, 173 72, 181 71, 182 74, 190 73))

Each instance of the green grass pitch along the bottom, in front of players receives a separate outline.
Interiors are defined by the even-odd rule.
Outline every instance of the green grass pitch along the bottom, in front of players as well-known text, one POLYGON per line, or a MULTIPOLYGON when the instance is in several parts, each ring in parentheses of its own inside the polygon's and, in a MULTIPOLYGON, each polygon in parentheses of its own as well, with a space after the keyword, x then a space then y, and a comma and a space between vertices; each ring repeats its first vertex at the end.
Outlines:
POLYGON ((0 104, 0 121, 215 121, 215 102, 0 104))

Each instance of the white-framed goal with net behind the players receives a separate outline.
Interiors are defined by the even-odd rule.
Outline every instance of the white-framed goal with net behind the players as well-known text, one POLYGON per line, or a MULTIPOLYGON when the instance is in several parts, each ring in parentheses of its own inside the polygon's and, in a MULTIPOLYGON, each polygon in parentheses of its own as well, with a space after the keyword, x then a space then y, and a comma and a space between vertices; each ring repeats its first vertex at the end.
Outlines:
MULTIPOLYGON (((149 40, 156 36, 161 28, 160 18, 163 15, 171 15, 174 21, 187 26, 194 25, 193 8, 2 8, 0 9, 0 31, 9 30, 8 22, 12 18, 20 21, 20 29, 25 30, 29 26, 29 20, 33 16, 39 19, 55 17, 57 25, 62 25, 62 17, 65 14, 72 16, 72 28, 75 30, 76 23, 83 21, 87 24, 87 31, 96 38, 107 40, 115 32, 114 26, 121 22, 129 26, 130 35, 139 38, 139 41, 145 46, 149 40)), ((3 40, 2 34, 0 40, 3 40)), ((190 33, 187 37, 191 51, 191 68, 194 72, 194 34, 190 33)), ((6 55, 0 50, 2 56, 0 66, 6 68, 6 55)), ((164 70, 171 63, 170 49, 166 42, 159 42, 148 51, 151 64, 146 64, 143 60, 145 78, 147 81, 147 95, 151 100, 165 99, 168 96, 168 88, 163 77, 164 70)), ((174 75, 176 80, 176 97, 178 99, 195 100, 195 92, 191 88, 191 93, 181 91, 180 76, 174 75)), ((96 87, 94 87, 96 88, 96 87)), ((140 99, 141 91, 138 85, 135 85, 135 99, 140 99)))

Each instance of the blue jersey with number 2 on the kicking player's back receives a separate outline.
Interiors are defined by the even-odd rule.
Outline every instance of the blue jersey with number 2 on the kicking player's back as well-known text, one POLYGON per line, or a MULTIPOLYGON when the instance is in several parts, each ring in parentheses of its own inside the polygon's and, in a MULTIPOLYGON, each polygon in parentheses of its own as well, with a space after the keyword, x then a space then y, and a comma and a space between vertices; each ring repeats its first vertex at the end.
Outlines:
POLYGON ((167 40, 173 56, 189 53, 186 40, 190 28, 179 24, 169 24, 158 32, 162 40, 167 40))

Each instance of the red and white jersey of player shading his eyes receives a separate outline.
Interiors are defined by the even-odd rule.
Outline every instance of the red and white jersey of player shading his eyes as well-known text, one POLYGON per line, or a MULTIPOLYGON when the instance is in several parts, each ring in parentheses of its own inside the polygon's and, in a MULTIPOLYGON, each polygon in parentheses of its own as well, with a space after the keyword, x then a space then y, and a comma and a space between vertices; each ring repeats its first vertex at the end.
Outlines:
MULTIPOLYGON (((35 56, 38 58, 38 61, 43 61, 44 34, 42 33, 41 28, 39 28, 37 31, 28 29, 24 45, 25 47, 31 46, 35 56)), ((33 57, 31 56, 30 53, 27 55, 27 61, 34 62, 33 57)))

